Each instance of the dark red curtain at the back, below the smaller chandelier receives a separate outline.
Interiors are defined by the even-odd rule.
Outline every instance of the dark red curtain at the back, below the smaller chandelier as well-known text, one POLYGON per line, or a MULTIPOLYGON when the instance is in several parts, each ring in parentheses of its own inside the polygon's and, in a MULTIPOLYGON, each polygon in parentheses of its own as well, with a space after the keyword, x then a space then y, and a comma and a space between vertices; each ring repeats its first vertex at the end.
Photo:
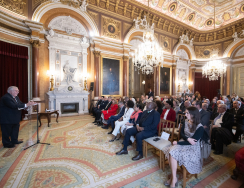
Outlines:
POLYGON ((216 81, 209 81, 208 78, 202 77, 202 73, 195 73, 195 91, 199 91, 201 96, 206 96, 209 100, 212 100, 215 96, 218 96, 218 90, 220 89, 220 78, 216 81))

